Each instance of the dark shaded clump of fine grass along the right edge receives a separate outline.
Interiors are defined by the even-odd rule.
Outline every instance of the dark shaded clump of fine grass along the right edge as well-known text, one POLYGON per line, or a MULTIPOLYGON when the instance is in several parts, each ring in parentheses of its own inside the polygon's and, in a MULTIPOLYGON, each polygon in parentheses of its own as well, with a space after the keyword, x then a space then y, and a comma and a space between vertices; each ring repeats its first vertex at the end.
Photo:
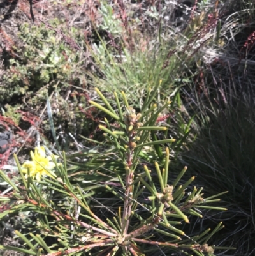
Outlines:
POLYGON ((228 96, 220 105, 214 103, 213 111, 208 107, 207 122, 183 160, 208 193, 229 191, 222 195, 228 213, 211 218, 224 220, 226 229, 218 235, 224 240, 222 245, 237 246, 235 255, 251 255, 255 234, 254 100, 244 92, 237 95, 228 96))

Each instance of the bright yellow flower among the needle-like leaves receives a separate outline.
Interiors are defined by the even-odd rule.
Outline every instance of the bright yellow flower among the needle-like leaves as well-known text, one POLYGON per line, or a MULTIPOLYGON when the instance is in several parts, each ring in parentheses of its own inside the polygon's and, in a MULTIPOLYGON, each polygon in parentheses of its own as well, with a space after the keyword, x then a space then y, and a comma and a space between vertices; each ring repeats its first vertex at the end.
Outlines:
MULTIPOLYGON (((25 161, 22 165, 22 172, 25 174, 25 178, 27 179, 28 169, 30 172, 30 176, 32 179, 34 177, 36 180, 40 181, 41 176, 50 176, 56 177, 54 172, 51 172, 55 167, 55 163, 52 162, 51 156, 46 156, 44 147, 36 147, 33 151, 30 152, 32 161, 25 161)), ((55 156, 58 158, 58 156, 55 156)))

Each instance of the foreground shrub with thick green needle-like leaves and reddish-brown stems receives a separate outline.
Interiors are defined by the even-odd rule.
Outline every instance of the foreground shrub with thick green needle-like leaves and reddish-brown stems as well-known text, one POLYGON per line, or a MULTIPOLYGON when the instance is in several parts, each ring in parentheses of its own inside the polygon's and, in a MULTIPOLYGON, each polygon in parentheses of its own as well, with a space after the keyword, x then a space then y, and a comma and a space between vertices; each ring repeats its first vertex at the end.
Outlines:
MULTIPOLYGON (((28 234, 25 231, 15 231, 27 248, 1 245, 0 249, 11 249, 29 255, 47 253, 48 256, 142 256, 151 253, 155 255, 159 246, 162 250, 182 252, 184 255, 214 255, 217 246, 209 246, 207 243, 215 232, 222 229, 222 223, 211 232, 210 229, 203 230, 196 236, 187 236, 181 226, 183 222, 189 223, 189 215, 202 218, 198 209, 226 210, 205 206, 219 201, 216 197, 225 192, 203 197, 203 188, 190 187, 194 177, 182 183, 186 167, 171 181, 168 147, 162 167, 157 162, 152 170, 147 165, 141 167, 139 156, 144 147, 171 144, 175 141, 150 140, 151 131, 166 130, 166 127, 155 124, 159 113, 170 104, 165 102, 158 108, 153 103, 158 86, 149 91, 140 113, 137 114, 123 92, 124 105, 120 105, 119 96, 114 93, 116 104, 112 107, 96 89, 104 105, 93 101, 90 103, 110 117, 105 118, 105 122, 99 126, 114 149, 113 154, 106 158, 113 157, 119 163, 109 172, 111 175, 107 171, 101 176, 93 173, 91 176, 96 182, 78 182, 78 179, 72 179, 75 172, 71 171, 72 166, 68 165, 69 160, 65 153, 61 155, 61 164, 52 156, 54 172, 51 165, 50 170, 43 165, 46 158, 42 149, 38 149, 37 155, 33 157, 34 164, 27 162, 23 166, 40 169, 43 174, 40 178, 34 180, 34 169, 32 176, 29 168, 26 178, 17 158, 20 184, 13 183, 3 171, 0 172, 1 178, 13 189, 11 193, 0 195, 0 200, 6 204, 3 213, 0 213, 1 220, 18 213, 30 213, 31 218, 35 218, 34 227, 29 229, 28 234), (115 179, 112 178, 113 175, 115 179), (113 201, 106 200, 107 193, 113 201), (96 200, 97 194, 105 196, 104 204, 99 204, 96 200), (97 206, 101 206, 99 211, 97 206), (102 212, 105 208, 106 212, 102 212)), ((84 163, 80 165, 86 167, 84 163)), ((101 163, 96 169, 100 165, 101 163)))

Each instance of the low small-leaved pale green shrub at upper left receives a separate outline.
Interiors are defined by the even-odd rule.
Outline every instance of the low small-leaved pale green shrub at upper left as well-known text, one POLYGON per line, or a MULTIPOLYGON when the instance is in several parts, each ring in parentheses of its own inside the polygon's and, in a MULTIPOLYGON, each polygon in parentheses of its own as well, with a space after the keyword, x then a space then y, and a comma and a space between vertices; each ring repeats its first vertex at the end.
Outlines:
MULTIPOLYGON (((52 27, 57 20, 52 21, 52 27)), ((33 94, 47 84, 61 80, 64 85, 71 77, 71 66, 77 61, 77 55, 71 47, 61 43, 54 29, 45 24, 20 26, 19 46, 13 47, 16 56, 6 58, 6 72, 3 75, 2 100, 11 100, 13 96, 33 94), (18 86, 17 86, 18 85, 18 86)), ((40 94, 47 94, 40 90, 40 94)))

